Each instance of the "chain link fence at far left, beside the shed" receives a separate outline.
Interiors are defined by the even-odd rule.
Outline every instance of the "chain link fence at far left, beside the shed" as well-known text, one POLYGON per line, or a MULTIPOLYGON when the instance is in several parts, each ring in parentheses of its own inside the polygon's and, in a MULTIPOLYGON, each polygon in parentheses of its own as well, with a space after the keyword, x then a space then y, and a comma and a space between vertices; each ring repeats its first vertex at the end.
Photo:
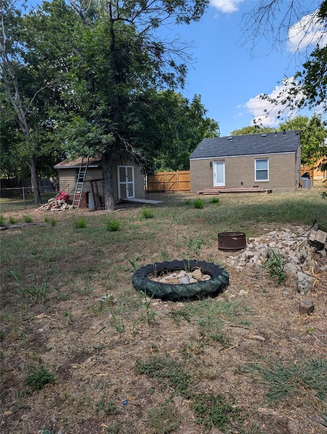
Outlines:
MULTIPOLYGON (((58 194, 58 187, 47 185, 38 187, 42 204, 58 194)), ((0 213, 37 208, 32 187, 0 188, 0 213)))

